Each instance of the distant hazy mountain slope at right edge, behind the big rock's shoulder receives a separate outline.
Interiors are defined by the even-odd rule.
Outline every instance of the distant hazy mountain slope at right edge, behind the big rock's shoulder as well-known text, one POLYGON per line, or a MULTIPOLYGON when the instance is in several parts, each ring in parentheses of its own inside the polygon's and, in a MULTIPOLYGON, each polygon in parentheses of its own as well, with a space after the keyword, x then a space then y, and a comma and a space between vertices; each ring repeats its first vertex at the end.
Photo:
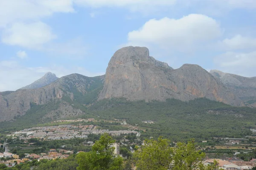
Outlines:
POLYGON ((246 105, 256 107, 256 77, 247 78, 218 70, 211 70, 210 73, 232 89, 246 105))

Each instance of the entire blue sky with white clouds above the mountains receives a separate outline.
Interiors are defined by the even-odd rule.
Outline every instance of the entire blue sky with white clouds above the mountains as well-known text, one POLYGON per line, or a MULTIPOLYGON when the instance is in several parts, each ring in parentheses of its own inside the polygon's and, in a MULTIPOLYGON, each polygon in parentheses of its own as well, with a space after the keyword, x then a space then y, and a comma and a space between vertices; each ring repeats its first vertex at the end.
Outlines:
POLYGON ((0 91, 47 72, 104 75, 124 46, 255 77, 255 18, 256 0, 0 0, 0 91))

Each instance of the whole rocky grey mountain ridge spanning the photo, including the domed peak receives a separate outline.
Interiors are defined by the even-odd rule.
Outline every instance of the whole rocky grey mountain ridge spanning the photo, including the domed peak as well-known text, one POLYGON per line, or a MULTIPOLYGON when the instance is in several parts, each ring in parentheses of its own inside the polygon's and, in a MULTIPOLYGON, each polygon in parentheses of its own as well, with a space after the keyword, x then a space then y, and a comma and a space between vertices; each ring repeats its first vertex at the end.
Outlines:
POLYGON ((87 77, 74 73, 41 88, 0 92, 0 121, 10 121, 15 116, 25 115, 32 106, 47 104, 54 106, 54 109, 47 109, 47 120, 75 113, 84 115, 87 106, 111 98, 146 102, 207 98, 232 106, 256 107, 254 96, 249 95, 256 94, 256 89, 227 85, 221 80, 225 74, 220 74, 222 76, 209 73, 195 64, 173 69, 151 57, 146 47, 128 46, 114 53, 106 75, 87 77), (236 88, 241 90, 236 92, 236 88))

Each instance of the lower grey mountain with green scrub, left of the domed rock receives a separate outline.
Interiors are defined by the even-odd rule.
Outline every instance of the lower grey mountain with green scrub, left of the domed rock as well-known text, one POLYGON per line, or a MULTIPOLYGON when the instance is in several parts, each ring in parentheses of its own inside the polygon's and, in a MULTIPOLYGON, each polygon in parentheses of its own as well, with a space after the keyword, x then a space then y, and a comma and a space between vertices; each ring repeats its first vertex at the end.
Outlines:
POLYGON ((18 89, 5 96, 0 95, 0 121, 9 121, 22 116, 33 105, 49 103, 55 103, 58 106, 49 110, 48 117, 51 117, 52 112, 57 111, 62 112, 59 117, 68 117, 74 112, 82 114, 81 110, 73 108, 73 105, 90 104, 95 101, 102 89, 103 81, 104 76, 90 78, 72 74, 39 89, 18 89))

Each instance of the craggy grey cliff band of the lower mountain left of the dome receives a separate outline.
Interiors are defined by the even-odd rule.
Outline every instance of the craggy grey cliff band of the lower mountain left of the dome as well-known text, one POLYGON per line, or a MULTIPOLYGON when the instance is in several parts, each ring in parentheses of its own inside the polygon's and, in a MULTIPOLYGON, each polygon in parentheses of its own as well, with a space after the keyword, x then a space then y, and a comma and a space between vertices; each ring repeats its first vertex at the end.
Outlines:
MULTIPOLYGON (((8 95, 0 95, 0 121, 9 121, 17 115, 24 115, 31 103, 47 104, 56 100, 76 100, 86 98, 87 92, 103 85, 104 76, 89 78, 84 75, 72 74, 59 78, 52 84, 39 89, 19 89, 8 95)), ((97 96, 96 96, 97 98, 97 96)))

